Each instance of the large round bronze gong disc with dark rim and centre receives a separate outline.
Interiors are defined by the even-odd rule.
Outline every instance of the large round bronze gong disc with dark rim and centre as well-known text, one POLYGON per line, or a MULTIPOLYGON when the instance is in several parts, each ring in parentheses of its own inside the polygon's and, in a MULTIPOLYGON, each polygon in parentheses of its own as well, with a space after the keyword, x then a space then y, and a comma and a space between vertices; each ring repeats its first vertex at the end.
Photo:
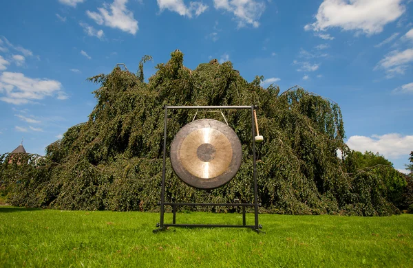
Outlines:
POLYGON ((195 188, 218 188, 237 174, 242 148, 237 134, 212 119, 195 120, 178 131, 171 144, 176 175, 195 188))

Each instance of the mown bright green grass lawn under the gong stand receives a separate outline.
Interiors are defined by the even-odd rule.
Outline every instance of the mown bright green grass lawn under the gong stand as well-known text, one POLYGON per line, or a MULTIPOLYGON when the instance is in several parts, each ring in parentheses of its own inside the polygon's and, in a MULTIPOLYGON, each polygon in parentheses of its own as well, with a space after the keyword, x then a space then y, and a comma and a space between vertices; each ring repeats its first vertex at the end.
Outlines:
MULTIPOLYGON (((1 206, 0 267, 413 267, 413 214, 260 214, 265 234, 173 227, 153 234, 158 221, 158 213, 1 206)), ((242 218, 191 212, 178 213, 177 223, 242 218)))

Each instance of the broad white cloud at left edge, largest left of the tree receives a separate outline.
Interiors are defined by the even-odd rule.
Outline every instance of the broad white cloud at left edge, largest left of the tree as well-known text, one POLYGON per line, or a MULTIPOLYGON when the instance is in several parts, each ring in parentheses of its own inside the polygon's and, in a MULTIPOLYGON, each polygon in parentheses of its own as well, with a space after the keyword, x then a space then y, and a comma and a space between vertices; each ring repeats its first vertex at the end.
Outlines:
POLYGON ((61 91, 61 82, 49 79, 28 78, 21 73, 4 71, 0 75, 0 92, 5 96, 0 100, 12 104, 26 104, 32 100, 42 100, 61 91))

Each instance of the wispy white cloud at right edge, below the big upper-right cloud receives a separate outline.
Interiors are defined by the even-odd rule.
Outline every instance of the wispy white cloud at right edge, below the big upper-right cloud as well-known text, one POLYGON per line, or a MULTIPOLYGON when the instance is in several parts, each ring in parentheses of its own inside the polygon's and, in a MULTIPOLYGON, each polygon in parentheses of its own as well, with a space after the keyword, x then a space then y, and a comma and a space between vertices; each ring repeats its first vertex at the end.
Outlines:
POLYGON ((413 49, 405 49, 403 52, 394 50, 380 60, 376 67, 374 67, 374 70, 384 69, 388 73, 386 77, 392 78, 394 74, 404 74, 408 68, 408 63, 412 61, 413 49))

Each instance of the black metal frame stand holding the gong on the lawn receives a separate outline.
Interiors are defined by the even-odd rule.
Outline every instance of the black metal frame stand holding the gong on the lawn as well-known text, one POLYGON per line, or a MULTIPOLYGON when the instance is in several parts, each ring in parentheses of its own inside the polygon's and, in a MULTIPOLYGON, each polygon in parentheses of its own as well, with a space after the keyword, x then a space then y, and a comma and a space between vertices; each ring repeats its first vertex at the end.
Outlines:
POLYGON ((165 118, 164 118, 164 144, 163 144, 163 166, 162 166, 162 188, 160 191, 160 223, 156 224, 159 227, 153 232, 159 232, 166 230, 167 227, 241 227, 251 228, 255 232, 260 232, 262 225, 258 224, 258 190, 257 190, 257 159, 255 156, 255 118, 254 118, 254 105, 251 106, 165 106, 165 118), (254 203, 172 203, 165 202, 165 172, 166 172, 166 160, 167 160, 167 118, 168 109, 251 109, 251 138, 253 141, 253 179, 254 179, 254 203), (172 206, 173 219, 172 223, 164 223, 165 205, 172 206), (242 207, 242 225, 218 225, 218 224, 177 224, 176 223, 176 207, 180 205, 189 206, 225 206, 225 207, 242 207), (255 224, 246 225, 246 207, 254 207, 255 224))

